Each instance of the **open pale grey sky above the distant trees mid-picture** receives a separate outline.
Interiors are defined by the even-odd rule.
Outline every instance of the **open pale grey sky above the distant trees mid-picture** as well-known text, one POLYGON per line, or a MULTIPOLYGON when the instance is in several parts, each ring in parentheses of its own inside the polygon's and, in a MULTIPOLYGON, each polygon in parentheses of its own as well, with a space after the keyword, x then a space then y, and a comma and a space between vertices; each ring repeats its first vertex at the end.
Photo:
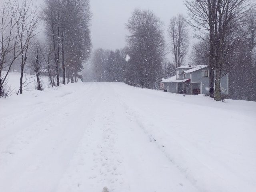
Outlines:
POLYGON ((125 23, 135 8, 152 10, 167 28, 170 18, 186 14, 183 0, 90 0, 93 49, 124 48, 125 23))

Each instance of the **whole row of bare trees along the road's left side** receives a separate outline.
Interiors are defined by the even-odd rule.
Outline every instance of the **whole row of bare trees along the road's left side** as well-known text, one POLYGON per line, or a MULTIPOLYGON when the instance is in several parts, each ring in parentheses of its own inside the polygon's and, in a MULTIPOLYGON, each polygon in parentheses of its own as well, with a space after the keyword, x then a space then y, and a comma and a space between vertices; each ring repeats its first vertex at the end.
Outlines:
POLYGON ((0 97, 11 93, 7 80, 15 65, 20 94, 26 68, 36 74, 38 90, 43 72, 50 86, 77 81, 92 49, 89 0, 45 0, 40 10, 32 0, 4 0, 0 11, 0 97), (38 36, 42 23, 45 38, 38 36))

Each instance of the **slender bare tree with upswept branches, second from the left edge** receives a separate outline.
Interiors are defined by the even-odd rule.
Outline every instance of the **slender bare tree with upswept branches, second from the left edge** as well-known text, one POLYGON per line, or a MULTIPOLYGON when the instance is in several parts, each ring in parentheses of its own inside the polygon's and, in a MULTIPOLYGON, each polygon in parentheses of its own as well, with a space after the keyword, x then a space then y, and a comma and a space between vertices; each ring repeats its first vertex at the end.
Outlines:
POLYGON ((39 16, 38 7, 33 4, 32 0, 22 0, 19 3, 18 0, 12 5, 14 11, 14 20, 16 23, 16 29, 18 34, 20 52, 21 52, 21 74, 20 74, 20 94, 22 94, 23 87, 23 71, 27 61, 28 50, 32 46, 35 36, 38 32, 39 16))

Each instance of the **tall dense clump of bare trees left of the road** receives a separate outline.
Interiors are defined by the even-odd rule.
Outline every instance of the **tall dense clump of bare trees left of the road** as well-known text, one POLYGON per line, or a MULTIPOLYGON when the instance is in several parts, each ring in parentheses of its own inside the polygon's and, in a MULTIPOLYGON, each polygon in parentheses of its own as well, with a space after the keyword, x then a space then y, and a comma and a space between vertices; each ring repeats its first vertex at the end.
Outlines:
POLYGON ((57 86, 60 61, 63 83, 66 75, 68 82, 76 82, 78 72, 83 68, 82 61, 88 60, 92 49, 89 0, 45 0, 45 4, 42 18, 46 24, 47 41, 53 47, 57 86))

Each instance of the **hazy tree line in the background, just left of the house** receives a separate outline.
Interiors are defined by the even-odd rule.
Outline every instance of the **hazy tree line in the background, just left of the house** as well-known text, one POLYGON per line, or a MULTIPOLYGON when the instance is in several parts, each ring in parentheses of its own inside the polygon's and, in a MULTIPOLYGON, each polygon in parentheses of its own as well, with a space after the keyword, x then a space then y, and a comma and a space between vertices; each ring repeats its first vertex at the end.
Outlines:
MULTIPOLYGON (((187 30, 186 19, 178 17, 187 30)), ((171 27, 170 27, 171 28, 171 27)), ((174 22, 175 30, 176 22, 174 22)), ((121 50, 110 51, 99 48, 94 50, 92 68, 96 81, 118 81, 134 86, 157 89, 164 77, 174 73, 171 62, 166 63, 168 46, 164 40, 164 24, 152 11, 135 9, 126 23, 129 35, 126 36, 127 46, 121 50), (164 66, 164 63, 166 66, 164 66), (166 72, 166 70, 172 72, 166 72)), ((184 31, 182 31, 184 32, 184 31)), ((178 35, 174 38, 178 39, 178 35)), ((188 50, 188 30, 184 32, 180 42, 175 42, 177 62, 184 62, 188 50), (186 38, 186 39, 185 39, 186 38)))

